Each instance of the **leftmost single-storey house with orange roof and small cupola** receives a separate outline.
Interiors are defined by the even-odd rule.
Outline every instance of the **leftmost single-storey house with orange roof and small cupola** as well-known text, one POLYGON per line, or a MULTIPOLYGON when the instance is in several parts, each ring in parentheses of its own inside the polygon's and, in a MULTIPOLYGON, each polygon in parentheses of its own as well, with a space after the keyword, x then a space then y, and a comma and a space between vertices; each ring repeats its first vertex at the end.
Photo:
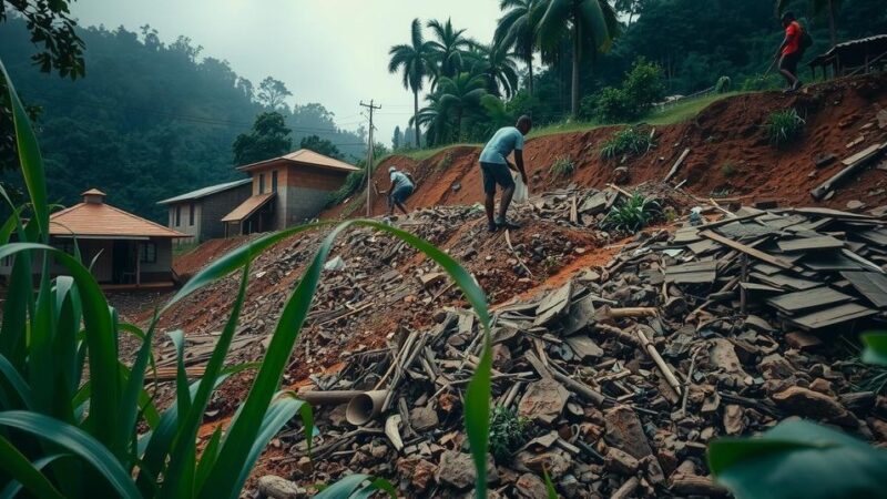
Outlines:
MULTIPOLYGON (((50 215, 50 244, 69 254, 77 245, 100 284, 173 283, 173 241, 186 234, 111 206, 98 189, 82 196, 82 203, 50 215)), ((0 275, 11 271, 11 259, 0 262, 0 275)))

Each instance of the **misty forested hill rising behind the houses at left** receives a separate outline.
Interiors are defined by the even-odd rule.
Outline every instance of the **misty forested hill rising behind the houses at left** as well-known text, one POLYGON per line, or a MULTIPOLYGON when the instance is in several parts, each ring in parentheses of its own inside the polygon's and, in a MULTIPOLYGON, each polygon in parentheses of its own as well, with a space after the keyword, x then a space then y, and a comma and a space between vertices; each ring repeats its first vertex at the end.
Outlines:
MULTIPOLYGON (((185 37, 163 44, 149 27, 140 33, 81 28, 79 34, 86 75, 72 82, 32 65, 23 21, 10 19, 0 29, 0 58, 19 94, 42 108, 37 126, 53 201, 75 203, 94 186, 116 206, 165 221, 156 201, 238 177, 232 142, 264 110, 257 83, 227 61, 202 58, 185 37)), ((278 111, 295 145, 319 135, 348 160, 363 155, 363 130, 338 130, 322 104, 278 111)))

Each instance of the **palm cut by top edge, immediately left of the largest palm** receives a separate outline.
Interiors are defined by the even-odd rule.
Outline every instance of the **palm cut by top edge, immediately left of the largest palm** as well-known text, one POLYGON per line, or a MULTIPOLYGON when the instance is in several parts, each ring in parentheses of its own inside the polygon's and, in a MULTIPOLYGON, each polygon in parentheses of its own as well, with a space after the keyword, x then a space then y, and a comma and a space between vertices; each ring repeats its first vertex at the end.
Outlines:
POLYGON ((499 9, 507 11, 496 27, 493 43, 513 48, 523 59, 529 71, 527 90, 533 94, 533 54, 536 53, 536 30, 544 9, 542 0, 501 0, 499 9))

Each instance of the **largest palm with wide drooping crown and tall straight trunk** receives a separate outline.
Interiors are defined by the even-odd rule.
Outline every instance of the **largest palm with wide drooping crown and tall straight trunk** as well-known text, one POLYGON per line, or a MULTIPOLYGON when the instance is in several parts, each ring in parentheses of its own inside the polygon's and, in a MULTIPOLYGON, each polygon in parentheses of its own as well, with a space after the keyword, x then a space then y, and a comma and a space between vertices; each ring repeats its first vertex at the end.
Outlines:
POLYGON ((557 50, 563 37, 573 42, 573 78, 570 110, 579 112, 579 62, 585 50, 592 54, 610 50, 619 35, 616 13, 606 0, 549 0, 537 28, 542 54, 557 50))

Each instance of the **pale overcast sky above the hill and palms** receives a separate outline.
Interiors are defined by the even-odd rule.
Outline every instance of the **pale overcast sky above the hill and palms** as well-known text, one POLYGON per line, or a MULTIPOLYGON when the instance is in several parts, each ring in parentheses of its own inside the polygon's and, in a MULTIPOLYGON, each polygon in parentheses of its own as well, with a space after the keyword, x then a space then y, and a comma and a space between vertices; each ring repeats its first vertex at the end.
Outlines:
MULTIPOLYGON (((377 139, 389 144, 406 128, 412 94, 388 73, 388 49, 409 41, 414 18, 452 18, 483 42, 492 39, 498 0, 78 0, 82 26, 151 24, 164 42, 180 34, 203 45, 203 57, 225 59, 258 84, 272 75, 293 92, 292 103, 319 102, 337 123, 356 129, 361 108, 375 99, 377 139)), ((427 33, 427 37, 430 33, 427 33)), ((89 48, 86 48, 89 50, 89 48)), ((421 102, 420 102, 421 105, 421 102)))

